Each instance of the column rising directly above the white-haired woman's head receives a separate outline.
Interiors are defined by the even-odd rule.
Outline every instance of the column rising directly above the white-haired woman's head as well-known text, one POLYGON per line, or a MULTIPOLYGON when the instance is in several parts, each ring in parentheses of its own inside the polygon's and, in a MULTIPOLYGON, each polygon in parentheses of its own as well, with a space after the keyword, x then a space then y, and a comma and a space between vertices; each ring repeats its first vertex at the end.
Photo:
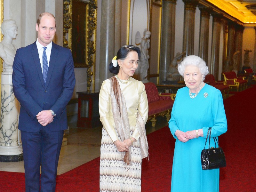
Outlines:
POLYGON ((194 54, 195 13, 197 0, 183 0, 184 6, 184 28, 183 28, 183 52, 186 56, 194 54))

